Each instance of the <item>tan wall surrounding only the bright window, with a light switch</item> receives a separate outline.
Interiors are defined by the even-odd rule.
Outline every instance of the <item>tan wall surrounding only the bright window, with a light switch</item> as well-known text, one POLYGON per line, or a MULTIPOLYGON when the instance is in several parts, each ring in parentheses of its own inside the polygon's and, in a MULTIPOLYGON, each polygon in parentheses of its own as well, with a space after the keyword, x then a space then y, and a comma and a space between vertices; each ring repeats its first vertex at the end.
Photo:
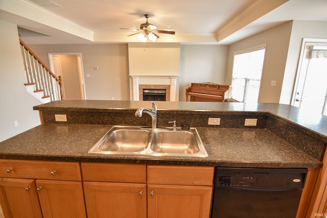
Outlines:
POLYGON ((250 47, 267 44, 258 102, 278 103, 282 90, 292 21, 256 34, 229 46, 226 84, 231 84, 233 54, 250 47), (271 86, 276 80, 276 86, 271 86))

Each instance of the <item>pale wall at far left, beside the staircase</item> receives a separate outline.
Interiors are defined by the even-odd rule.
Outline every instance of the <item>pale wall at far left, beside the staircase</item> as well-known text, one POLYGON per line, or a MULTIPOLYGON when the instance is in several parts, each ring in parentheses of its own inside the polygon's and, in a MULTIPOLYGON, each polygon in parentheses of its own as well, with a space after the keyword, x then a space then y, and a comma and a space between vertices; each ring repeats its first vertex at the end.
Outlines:
POLYGON ((0 141, 40 125, 41 103, 27 93, 17 26, 0 20, 0 141), (18 126, 14 122, 17 120, 18 126))

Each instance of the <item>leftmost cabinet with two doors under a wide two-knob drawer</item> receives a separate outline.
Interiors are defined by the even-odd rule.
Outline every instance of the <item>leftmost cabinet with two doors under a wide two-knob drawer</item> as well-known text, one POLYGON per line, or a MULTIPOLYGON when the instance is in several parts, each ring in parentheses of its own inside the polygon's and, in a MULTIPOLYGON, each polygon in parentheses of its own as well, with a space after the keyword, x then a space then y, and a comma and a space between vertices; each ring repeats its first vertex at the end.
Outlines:
POLYGON ((5 217, 86 217, 79 163, 0 160, 5 217))

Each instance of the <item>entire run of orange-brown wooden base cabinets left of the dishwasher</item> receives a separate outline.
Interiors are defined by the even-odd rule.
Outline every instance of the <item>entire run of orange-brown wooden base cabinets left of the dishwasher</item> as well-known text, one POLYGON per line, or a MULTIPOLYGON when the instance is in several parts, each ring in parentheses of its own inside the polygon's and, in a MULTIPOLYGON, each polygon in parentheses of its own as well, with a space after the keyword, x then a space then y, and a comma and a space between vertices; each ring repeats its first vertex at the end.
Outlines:
POLYGON ((213 177, 214 167, 0 160, 0 203, 14 218, 208 218, 213 177))

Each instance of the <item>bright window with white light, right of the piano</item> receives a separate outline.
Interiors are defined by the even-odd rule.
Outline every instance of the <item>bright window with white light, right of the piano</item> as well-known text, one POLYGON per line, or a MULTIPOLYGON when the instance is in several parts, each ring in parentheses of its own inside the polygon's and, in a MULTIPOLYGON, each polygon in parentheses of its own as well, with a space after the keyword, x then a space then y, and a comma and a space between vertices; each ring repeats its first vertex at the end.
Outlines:
POLYGON ((266 45, 234 54, 231 98, 238 102, 258 102, 266 45))

